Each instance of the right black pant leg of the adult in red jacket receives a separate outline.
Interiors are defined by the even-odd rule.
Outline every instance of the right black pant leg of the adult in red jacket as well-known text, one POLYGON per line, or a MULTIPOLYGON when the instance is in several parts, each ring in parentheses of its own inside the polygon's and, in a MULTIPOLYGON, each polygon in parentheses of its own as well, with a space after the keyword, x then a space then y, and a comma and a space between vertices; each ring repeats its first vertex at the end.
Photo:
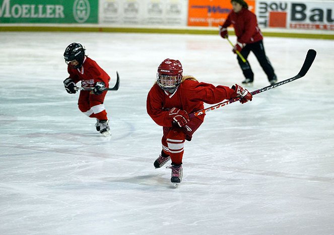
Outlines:
POLYGON ((276 79, 274 68, 270 63, 269 58, 265 55, 262 40, 248 45, 251 47, 251 51, 253 51, 254 55, 256 56, 257 61, 262 67, 266 76, 268 77, 268 80, 271 81, 273 79, 276 79))

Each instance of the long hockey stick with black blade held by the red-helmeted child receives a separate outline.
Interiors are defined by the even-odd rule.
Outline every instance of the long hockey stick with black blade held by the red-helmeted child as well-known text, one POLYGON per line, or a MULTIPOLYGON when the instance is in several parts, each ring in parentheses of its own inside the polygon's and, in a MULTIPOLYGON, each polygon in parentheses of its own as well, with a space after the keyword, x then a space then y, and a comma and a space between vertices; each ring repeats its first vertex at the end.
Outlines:
MULTIPOLYGON (((261 89, 252 91, 252 92, 250 92, 250 94, 252 94, 252 95, 256 95, 256 94, 261 93, 261 92, 263 92, 263 91, 268 91, 268 90, 273 89, 273 88, 275 88, 275 87, 284 85, 284 84, 286 84, 286 83, 289 83, 289 82, 295 81, 295 80, 297 80, 297 79, 299 79, 299 78, 301 78, 301 77, 304 77, 305 74, 307 73, 307 71, 310 69, 310 67, 311 67, 311 65, 312 65, 312 63, 313 63, 313 61, 314 61, 315 55, 316 55, 316 51, 315 51, 315 50, 313 50, 313 49, 309 49, 309 50, 307 51, 307 54, 306 54, 306 58, 305 58, 304 64, 303 64, 302 68, 300 69, 299 73, 298 73, 295 77, 292 77, 292 78, 286 79, 286 80, 284 80, 284 81, 282 81, 282 82, 278 82, 278 83, 275 83, 275 84, 272 84, 272 85, 263 87, 263 88, 261 88, 261 89)), ((211 106, 211 107, 208 107, 208 108, 204 108, 204 109, 202 109, 202 110, 198 110, 198 111, 196 111, 196 112, 192 112, 192 113, 189 114, 189 117, 190 117, 190 118, 193 118, 194 116, 202 115, 202 114, 204 114, 204 113, 206 113, 206 112, 209 112, 209 111, 211 111, 211 110, 215 110, 215 109, 217 109, 217 108, 223 107, 223 106, 225 106, 225 105, 228 105, 228 104, 233 103, 233 102, 235 102, 235 101, 238 101, 238 100, 240 100, 240 99, 241 99, 241 97, 237 97, 237 98, 230 99, 230 100, 227 100, 227 101, 225 101, 225 102, 216 104, 216 105, 214 105, 214 106, 211 106)))

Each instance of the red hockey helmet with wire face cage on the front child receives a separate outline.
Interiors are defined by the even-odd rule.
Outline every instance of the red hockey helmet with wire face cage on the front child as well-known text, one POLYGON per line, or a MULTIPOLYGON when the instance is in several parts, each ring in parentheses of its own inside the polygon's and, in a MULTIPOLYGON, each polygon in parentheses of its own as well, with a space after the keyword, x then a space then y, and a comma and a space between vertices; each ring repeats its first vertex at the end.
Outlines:
POLYGON ((181 63, 168 58, 158 67, 158 85, 165 91, 173 92, 181 84, 182 73, 183 69, 181 63))

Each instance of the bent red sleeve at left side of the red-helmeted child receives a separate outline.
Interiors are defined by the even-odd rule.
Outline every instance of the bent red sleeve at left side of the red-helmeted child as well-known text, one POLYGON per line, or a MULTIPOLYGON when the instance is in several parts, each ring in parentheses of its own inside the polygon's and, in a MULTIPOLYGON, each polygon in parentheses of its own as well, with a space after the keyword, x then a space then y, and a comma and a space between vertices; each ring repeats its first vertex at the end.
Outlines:
POLYGON ((171 127, 172 120, 169 118, 169 111, 163 110, 163 92, 164 91, 155 84, 147 96, 146 109, 147 113, 156 124, 163 127, 171 127))

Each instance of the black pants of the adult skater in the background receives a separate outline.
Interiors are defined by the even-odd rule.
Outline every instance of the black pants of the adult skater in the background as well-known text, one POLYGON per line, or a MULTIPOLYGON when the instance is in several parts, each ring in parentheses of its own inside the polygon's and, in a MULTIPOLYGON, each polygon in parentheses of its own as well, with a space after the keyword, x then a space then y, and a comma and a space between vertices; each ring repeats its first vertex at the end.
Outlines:
MULTIPOLYGON (((257 61, 260 64, 260 66, 262 67, 266 76, 268 77, 268 80, 271 81, 273 79, 276 79, 276 75, 275 75, 273 66, 270 63, 269 58, 266 57, 266 55, 265 55, 262 40, 258 41, 258 42, 246 44, 246 46, 244 48, 242 48, 240 53, 247 60, 247 57, 248 57, 250 51, 252 51, 254 53, 254 55, 256 56, 257 61)), ((250 65, 249 65, 248 61, 246 61, 246 63, 243 63, 239 56, 237 56, 237 58, 238 58, 238 63, 240 65, 240 68, 241 68, 242 73, 245 76, 245 78, 249 78, 251 81, 253 81, 254 80, 254 74, 253 74, 252 69, 250 68, 250 65)))

